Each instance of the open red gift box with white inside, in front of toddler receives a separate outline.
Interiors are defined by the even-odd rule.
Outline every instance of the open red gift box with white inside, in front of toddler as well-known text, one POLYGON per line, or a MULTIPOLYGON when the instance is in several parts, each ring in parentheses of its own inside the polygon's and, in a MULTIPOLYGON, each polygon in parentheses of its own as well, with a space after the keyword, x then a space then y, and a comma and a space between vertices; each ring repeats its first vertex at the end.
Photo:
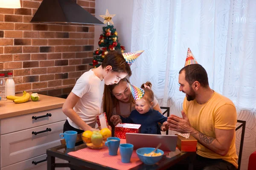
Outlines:
POLYGON ((115 126, 115 137, 126 139, 126 133, 140 133, 140 127, 138 124, 119 123, 115 126))

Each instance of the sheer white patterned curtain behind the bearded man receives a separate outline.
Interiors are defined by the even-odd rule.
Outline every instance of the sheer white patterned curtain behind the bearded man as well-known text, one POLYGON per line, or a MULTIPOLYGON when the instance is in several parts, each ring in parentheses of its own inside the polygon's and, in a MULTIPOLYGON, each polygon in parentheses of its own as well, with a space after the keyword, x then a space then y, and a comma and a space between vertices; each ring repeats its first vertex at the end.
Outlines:
MULTIPOLYGON (((256 150, 256 1, 134 0, 131 83, 146 81, 161 106, 181 116, 178 73, 187 49, 208 73, 210 87, 230 98, 247 121, 242 169, 256 150)), ((239 148, 241 133, 237 133, 239 148)))

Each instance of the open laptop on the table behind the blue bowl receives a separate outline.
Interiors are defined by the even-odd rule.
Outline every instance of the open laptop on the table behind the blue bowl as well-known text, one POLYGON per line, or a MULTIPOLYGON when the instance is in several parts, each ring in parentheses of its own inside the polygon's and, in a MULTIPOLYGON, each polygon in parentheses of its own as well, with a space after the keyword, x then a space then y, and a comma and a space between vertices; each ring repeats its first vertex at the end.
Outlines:
POLYGON ((157 147, 162 143, 160 150, 175 151, 178 136, 176 135, 155 135, 143 133, 126 133, 126 143, 133 144, 134 149, 140 147, 157 147))

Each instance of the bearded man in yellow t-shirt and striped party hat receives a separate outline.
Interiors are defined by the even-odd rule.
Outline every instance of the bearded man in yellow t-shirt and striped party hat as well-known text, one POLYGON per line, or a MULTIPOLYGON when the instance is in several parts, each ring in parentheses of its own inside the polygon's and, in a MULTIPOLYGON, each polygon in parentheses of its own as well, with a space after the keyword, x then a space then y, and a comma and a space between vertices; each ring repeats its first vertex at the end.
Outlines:
POLYGON ((168 117, 170 130, 190 133, 198 140, 195 170, 236 170, 236 108, 225 96, 209 88, 207 72, 190 49, 179 72, 180 91, 186 94, 182 118, 168 117))

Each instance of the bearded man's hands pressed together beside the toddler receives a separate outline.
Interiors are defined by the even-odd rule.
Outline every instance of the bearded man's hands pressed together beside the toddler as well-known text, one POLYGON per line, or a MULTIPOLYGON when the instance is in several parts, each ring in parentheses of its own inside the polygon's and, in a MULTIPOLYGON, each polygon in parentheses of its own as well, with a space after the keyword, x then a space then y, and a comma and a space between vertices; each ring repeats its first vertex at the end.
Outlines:
POLYGON ((169 126, 169 130, 174 130, 180 133, 190 133, 193 127, 189 123, 189 118, 186 116, 184 111, 181 111, 182 118, 171 115, 168 117, 166 123, 169 126))

